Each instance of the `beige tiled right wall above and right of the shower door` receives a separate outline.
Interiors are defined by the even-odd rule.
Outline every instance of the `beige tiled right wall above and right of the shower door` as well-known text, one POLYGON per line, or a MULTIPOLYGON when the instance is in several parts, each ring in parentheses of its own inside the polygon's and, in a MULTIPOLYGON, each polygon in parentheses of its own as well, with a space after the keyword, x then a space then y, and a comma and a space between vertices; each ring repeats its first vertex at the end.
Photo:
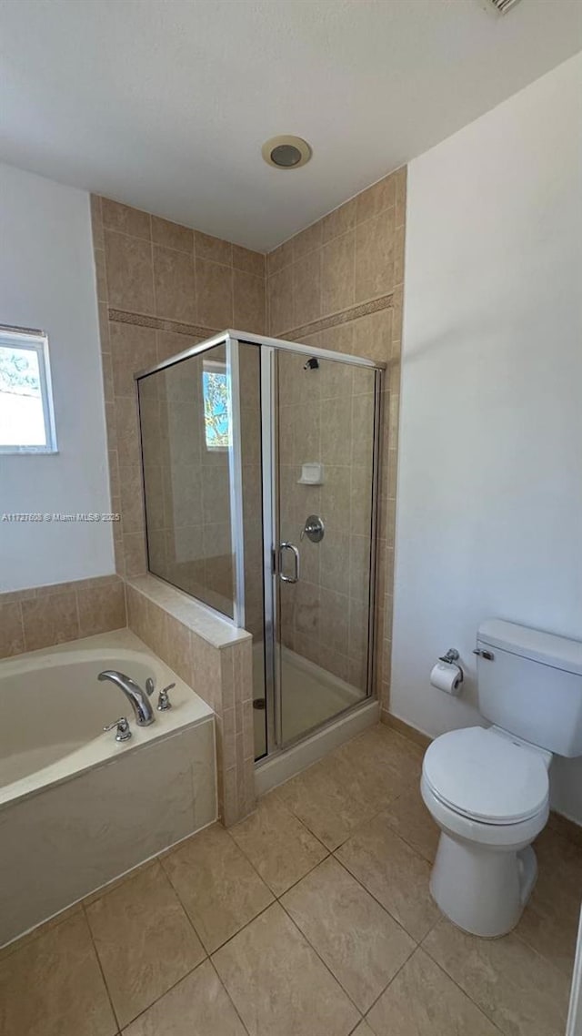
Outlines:
MULTIPOLYGON (((376 680, 388 706, 406 169, 267 257, 269 334, 387 365, 380 479, 376 680)), ((332 420, 322 416, 327 425, 332 420)), ((314 458, 317 459, 317 458, 314 458)), ((321 564, 321 562, 320 562, 321 564)))

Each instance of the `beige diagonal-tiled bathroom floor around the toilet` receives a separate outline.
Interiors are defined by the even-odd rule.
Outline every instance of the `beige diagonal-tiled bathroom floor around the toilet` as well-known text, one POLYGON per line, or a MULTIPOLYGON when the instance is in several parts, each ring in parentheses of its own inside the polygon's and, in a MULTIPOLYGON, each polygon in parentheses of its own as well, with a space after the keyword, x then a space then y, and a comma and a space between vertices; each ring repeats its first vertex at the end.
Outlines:
POLYGON ((0 1036, 563 1036, 582 846, 512 934, 432 902, 421 750, 373 727, 0 951, 0 1036))

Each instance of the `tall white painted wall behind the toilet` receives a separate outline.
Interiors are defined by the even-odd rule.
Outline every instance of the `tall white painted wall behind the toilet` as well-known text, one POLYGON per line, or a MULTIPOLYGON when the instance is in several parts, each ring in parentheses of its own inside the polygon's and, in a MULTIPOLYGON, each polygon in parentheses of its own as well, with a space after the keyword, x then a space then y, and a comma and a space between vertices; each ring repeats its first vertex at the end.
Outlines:
MULTIPOLYGON (((582 56, 408 172, 390 709, 479 721, 500 616, 582 639, 582 56), (458 648, 460 699, 429 684, 458 648)), ((552 770, 582 823, 582 760, 552 770)))

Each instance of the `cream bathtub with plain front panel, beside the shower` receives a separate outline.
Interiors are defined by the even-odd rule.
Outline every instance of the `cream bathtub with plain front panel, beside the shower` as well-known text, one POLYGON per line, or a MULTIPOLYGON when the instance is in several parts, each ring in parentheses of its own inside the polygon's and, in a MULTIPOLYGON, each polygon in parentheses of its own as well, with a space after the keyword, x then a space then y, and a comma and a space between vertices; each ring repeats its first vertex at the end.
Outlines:
POLYGON ((212 710, 129 630, 0 662, 0 946, 215 818, 212 710), (103 669, 153 678, 154 723, 103 669))

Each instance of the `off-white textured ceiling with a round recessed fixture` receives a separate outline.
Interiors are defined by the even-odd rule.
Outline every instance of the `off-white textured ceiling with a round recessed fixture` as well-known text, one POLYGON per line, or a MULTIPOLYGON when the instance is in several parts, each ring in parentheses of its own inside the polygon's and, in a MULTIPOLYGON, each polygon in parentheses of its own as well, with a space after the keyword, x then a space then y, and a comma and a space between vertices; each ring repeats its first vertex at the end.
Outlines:
POLYGON ((0 0, 0 159, 270 250, 582 47, 578 0, 0 0), (303 169, 261 144, 298 134, 303 169))

